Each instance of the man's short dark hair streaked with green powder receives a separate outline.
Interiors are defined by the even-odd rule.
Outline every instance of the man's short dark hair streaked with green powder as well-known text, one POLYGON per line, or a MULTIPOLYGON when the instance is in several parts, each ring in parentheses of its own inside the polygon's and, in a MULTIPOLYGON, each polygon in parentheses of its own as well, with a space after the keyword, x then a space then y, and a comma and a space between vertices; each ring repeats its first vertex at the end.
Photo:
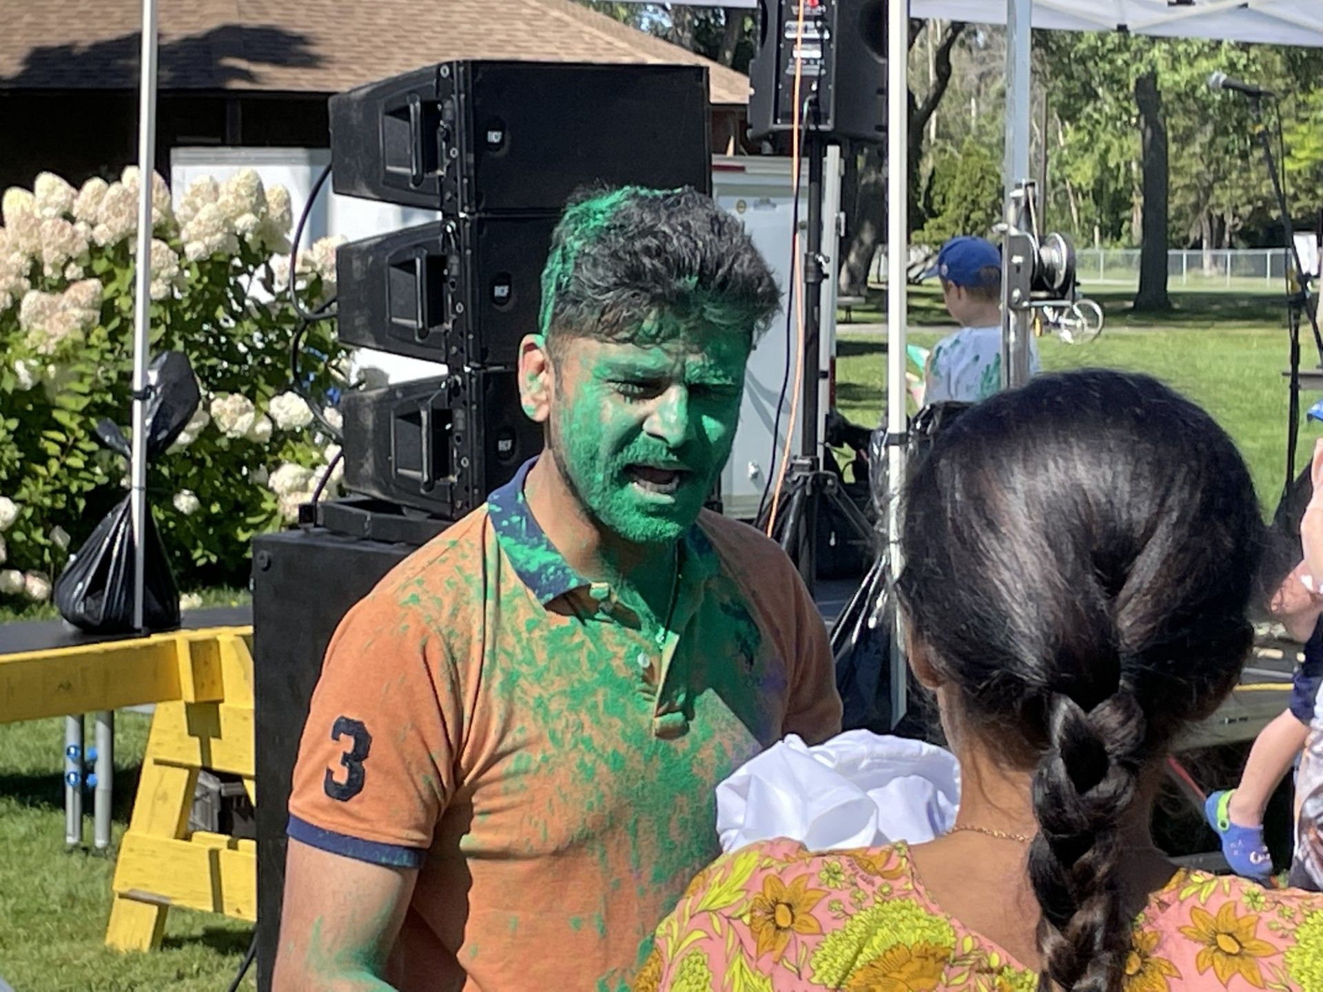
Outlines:
POLYGON ((676 328, 766 329, 781 294, 744 225, 688 186, 579 193, 542 270, 540 331, 652 344, 676 328))

